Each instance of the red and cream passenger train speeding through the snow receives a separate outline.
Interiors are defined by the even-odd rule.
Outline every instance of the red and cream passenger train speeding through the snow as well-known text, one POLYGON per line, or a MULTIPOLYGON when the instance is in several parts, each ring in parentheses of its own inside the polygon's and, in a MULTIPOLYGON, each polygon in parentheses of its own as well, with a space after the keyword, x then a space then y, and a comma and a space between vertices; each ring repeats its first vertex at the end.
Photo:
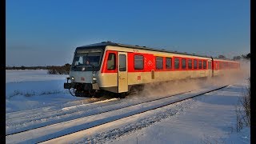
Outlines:
POLYGON ((102 93, 126 97, 149 83, 212 78, 240 68, 237 61, 199 54, 100 42, 78 46, 64 89, 77 97, 102 93))

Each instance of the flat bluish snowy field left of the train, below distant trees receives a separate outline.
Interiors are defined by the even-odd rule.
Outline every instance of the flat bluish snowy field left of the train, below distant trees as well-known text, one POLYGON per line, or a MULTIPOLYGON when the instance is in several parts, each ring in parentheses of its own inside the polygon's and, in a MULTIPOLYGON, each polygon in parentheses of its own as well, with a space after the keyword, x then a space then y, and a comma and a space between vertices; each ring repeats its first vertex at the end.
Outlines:
POLYGON ((83 99, 63 89, 66 77, 47 70, 6 70, 6 112, 83 99))

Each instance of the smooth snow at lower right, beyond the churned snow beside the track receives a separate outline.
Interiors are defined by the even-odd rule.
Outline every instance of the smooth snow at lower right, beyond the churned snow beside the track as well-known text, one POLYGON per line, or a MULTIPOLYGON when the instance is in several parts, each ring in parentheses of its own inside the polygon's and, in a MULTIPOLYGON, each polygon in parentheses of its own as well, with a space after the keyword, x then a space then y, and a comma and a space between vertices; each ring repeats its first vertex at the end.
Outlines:
POLYGON ((234 84, 193 98, 191 105, 178 114, 107 143, 250 143, 250 128, 236 133, 234 106, 243 86, 234 84))

